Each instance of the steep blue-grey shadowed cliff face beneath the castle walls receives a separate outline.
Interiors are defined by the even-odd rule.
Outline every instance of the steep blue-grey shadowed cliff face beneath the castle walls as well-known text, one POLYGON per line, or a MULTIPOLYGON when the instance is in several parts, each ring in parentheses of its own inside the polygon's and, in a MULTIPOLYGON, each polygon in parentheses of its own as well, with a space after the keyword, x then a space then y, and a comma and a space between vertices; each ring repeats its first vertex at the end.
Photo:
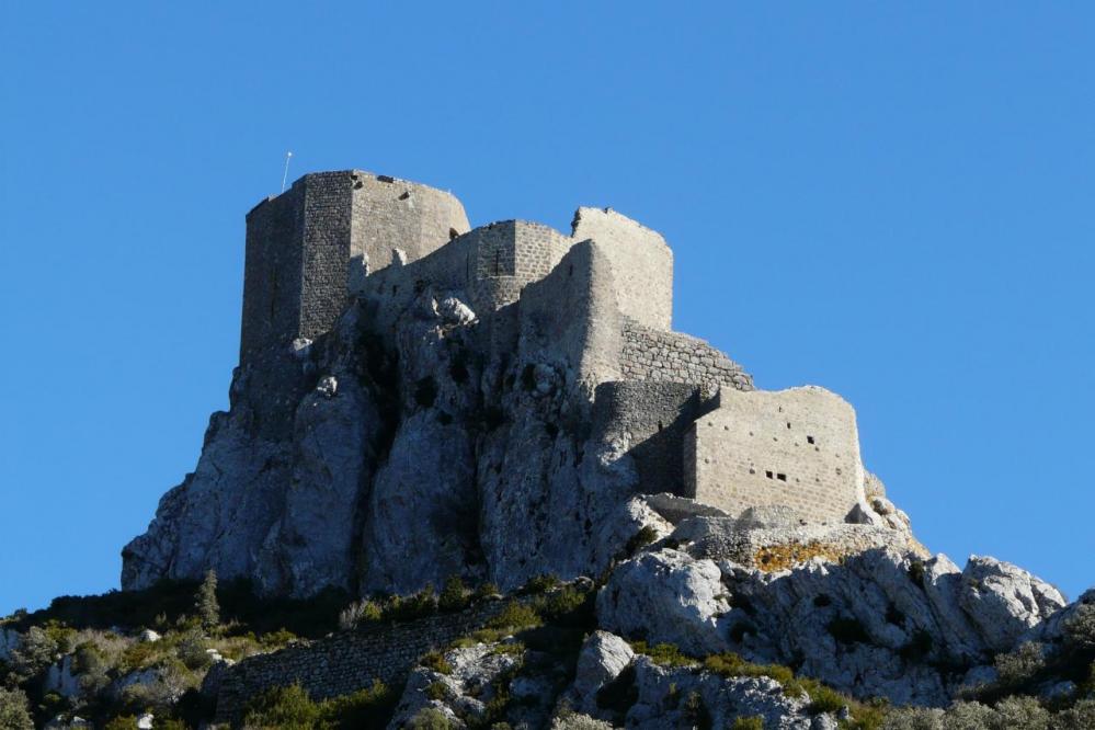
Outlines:
POLYGON ((591 435, 566 362, 491 358, 452 293, 385 321, 354 306, 310 344, 252 355, 194 474, 123 551, 124 588, 212 568, 267 595, 454 574, 510 589, 596 574, 661 522, 628 503, 626 448, 591 435))

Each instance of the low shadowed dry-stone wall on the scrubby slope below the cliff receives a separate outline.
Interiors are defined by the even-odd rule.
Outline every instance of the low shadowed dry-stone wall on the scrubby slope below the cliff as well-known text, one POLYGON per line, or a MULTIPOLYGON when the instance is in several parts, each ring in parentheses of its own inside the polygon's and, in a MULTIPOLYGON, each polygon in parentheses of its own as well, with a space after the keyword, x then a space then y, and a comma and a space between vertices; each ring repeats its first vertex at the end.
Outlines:
POLYGON ((482 628, 504 606, 490 601, 457 614, 342 631, 244 659, 220 678, 215 721, 239 720, 250 698, 273 687, 299 683, 312 699, 327 699, 368 687, 374 680, 397 686, 423 654, 482 628))

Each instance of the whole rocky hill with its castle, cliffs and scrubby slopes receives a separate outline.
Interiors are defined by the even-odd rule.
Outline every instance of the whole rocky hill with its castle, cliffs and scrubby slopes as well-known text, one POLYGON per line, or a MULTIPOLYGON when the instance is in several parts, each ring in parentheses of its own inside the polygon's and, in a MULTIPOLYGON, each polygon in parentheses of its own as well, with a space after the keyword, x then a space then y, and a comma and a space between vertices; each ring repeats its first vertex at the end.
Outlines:
POLYGON ((849 403, 673 330, 659 233, 353 170, 246 246, 230 409, 123 592, 0 625, 0 717, 1095 727, 1095 592, 932 555, 849 403))

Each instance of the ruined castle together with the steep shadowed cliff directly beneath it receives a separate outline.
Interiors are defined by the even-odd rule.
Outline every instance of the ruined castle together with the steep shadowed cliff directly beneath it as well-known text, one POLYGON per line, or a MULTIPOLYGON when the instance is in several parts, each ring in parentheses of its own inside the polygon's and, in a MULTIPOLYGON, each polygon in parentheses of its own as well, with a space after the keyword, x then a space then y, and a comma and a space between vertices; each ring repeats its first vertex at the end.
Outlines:
POLYGON ((125 548, 123 584, 598 574, 657 518, 636 499, 665 493, 674 513, 900 523, 867 502, 851 406, 756 390, 673 331, 672 292, 665 240, 611 208, 569 233, 471 228, 425 185, 305 175, 247 216, 231 409, 125 548))

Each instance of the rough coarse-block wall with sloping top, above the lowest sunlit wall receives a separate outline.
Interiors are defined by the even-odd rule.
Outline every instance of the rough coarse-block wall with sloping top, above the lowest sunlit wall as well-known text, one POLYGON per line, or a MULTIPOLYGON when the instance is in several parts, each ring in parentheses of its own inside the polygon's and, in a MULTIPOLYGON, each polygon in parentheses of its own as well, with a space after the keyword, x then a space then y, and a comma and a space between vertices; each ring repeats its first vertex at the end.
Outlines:
POLYGON ((620 370, 629 380, 692 383, 714 392, 726 386, 752 390, 753 378, 741 365, 698 338, 624 320, 620 370))

